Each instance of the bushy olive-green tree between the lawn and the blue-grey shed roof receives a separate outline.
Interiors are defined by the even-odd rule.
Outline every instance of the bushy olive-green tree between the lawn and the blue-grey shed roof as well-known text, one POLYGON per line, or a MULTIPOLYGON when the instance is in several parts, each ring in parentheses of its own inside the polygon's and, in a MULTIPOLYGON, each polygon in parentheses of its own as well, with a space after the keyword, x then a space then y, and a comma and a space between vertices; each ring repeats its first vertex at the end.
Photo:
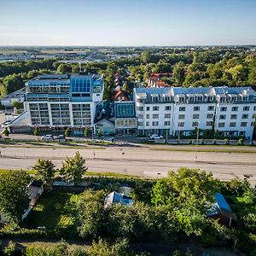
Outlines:
POLYGON ((85 190, 77 202, 78 231, 82 237, 96 238, 105 223, 104 221, 105 193, 85 190))

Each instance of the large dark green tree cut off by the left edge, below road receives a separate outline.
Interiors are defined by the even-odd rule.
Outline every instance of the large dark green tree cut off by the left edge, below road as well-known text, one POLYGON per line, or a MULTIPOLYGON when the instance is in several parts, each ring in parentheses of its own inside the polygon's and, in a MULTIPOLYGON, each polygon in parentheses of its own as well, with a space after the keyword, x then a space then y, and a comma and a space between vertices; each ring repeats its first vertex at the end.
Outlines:
POLYGON ((29 175, 22 171, 0 175, 0 212, 11 224, 20 224, 28 207, 26 185, 29 181, 29 175))

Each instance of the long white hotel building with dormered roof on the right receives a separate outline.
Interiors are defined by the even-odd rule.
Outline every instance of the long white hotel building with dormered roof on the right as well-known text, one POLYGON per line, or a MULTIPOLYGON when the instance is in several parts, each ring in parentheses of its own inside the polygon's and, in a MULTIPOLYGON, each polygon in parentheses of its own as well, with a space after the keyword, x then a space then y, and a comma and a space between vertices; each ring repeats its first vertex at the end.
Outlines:
POLYGON ((252 139, 256 94, 250 87, 136 88, 137 133, 189 136, 195 128, 252 139))

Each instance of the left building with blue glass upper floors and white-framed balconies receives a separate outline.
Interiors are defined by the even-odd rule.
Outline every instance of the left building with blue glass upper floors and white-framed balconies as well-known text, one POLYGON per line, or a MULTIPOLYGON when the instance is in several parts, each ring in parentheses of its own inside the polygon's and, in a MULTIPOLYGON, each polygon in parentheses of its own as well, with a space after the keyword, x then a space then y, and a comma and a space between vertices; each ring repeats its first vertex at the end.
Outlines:
POLYGON ((102 102, 102 76, 44 74, 26 83, 29 124, 41 129, 82 131, 93 127, 96 105, 102 102))

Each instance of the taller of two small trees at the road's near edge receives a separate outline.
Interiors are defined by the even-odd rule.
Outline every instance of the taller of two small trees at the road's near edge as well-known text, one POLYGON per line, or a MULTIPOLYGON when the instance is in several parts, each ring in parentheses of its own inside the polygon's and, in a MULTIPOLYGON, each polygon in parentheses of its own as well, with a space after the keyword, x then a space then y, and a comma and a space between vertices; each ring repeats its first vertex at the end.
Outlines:
POLYGON ((79 154, 79 151, 73 157, 66 157, 60 169, 61 175, 64 175, 68 182, 75 184, 81 183, 82 176, 88 169, 85 165, 84 158, 79 154))

